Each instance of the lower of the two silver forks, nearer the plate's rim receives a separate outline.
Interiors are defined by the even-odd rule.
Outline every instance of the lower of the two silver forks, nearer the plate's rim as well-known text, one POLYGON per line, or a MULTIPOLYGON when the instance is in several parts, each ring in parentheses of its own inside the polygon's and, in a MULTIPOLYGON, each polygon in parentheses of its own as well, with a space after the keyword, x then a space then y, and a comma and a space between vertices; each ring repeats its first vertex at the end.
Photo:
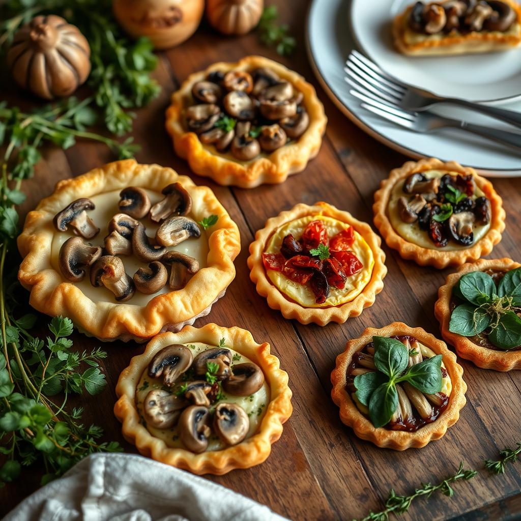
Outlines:
POLYGON ((516 132, 507 132, 505 130, 492 129, 489 127, 481 127, 480 125, 473 125, 466 121, 459 121, 457 119, 444 118, 428 112, 410 112, 392 106, 388 103, 382 103, 375 99, 374 96, 366 95, 357 90, 351 89, 350 93, 362 100, 361 106, 378 116, 388 119, 410 130, 421 133, 435 132, 441 128, 460 128, 478 134, 484 138, 492 139, 500 143, 507 143, 521 148, 521 134, 516 132))

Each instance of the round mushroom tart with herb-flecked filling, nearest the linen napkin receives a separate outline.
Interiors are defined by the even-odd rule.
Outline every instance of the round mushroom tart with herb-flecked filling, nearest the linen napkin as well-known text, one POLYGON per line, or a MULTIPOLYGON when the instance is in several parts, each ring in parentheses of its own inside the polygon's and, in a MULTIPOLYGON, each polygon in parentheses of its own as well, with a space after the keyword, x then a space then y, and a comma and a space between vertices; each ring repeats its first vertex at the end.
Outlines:
POLYGON ((208 324, 153 338, 119 377, 123 436, 195 474, 262 463, 292 412, 288 375, 250 332, 208 324))

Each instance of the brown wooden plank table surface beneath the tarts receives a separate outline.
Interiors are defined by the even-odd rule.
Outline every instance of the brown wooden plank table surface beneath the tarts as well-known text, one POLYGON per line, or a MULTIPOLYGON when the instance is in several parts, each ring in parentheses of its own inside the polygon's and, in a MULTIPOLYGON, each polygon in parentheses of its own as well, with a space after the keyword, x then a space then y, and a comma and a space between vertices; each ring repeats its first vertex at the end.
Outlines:
MULTIPOLYGON (((372 224, 375 190, 392 168, 407 159, 355 127, 318 87, 305 53, 308 2, 276 3, 281 19, 290 24, 298 41, 293 56, 280 58, 272 49, 260 45, 255 34, 226 38, 203 23, 188 42, 159 54, 154 76, 163 86, 162 93, 139 111, 134 123, 133 135, 142 147, 137 154, 139 162, 169 166, 191 176, 197 184, 208 185, 240 228, 242 251, 235 261, 237 277, 226 296, 195 326, 207 322, 239 326, 249 329, 258 342, 268 341, 272 352, 280 358, 281 367, 288 372, 293 390, 293 415, 284 425, 282 437, 273 445, 268 460, 248 470, 206 477, 295 520, 343 520, 362 518, 371 509, 379 510, 390 488, 400 494, 412 493, 421 482, 438 482, 452 475, 459 462, 464 461, 467 467, 481 470, 475 479, 456 483, 452 499, 438 494, 429 501, 418 500, 403 519, 449 519, 465 513, 463 519, 519 518, 521 464, 511 465, 502 476, 493 476, 483 470, 483 460, 496 459, 505 445, 515 446, 520 439, 521 371, 496 373, 460 360, 468 385, 467 405, 460 420, 441 440, 402 453, 379 449, 358 439, 341 423, 338 408, 330 399, 330 374, 335 358, 346 341, 357 337, 366 327, 382 327, 400 320, 439 336, 433 305, 439 286, 452 270, 418 267, 384 246, 389 272, 375 304, 343 325, 326 327, 285 320, 268 307, 250 281, 246 266, 248 247, 267 218, 296 203, 327 201, 372 224), (300 72, 317 87, 329 118, 320 153, 304 172, 291 176, 283 184, 253 190, 224 188, 192 175, 188 165, 176 157, 164 129, 170 93, 191 72, 214 61, 235 61, 247 54, 279 60, 300 72)), ((23 102, 13 87, 5 89, 4 94, 11 102, 23 102)), ((27 98, 23 103, 27 107, 27 98)), ((77 176, 112 159, 104 146, 90 143, 79 143, 66 152, 47 149, 35 177, 23 184, 22 189, 29 196, 21 212, 26 214, 41 197, 51 194, 58 180, 77 176)), ((491 257, 519 260, 521 179, 498 179, 494 185, 504 199, 507 221, 503 240, 491 257)), ((78 350, 100 345, 99 341, 79 333, 73 339, 78 350)), ((123 440, 120 424, 113 415, 114 388, 120 371, 143 347, 116 342, 103 348, 109 352, 104 363, 108 387, 99 396, 81 398, 86 410, 84 421, 101 425, 106 439, 118 440, 126 451, 135 452, 123 440)), ((23 478, 2 489, 0 514, 38 488, 38 481, 38 472, 26 471, 23 478)))

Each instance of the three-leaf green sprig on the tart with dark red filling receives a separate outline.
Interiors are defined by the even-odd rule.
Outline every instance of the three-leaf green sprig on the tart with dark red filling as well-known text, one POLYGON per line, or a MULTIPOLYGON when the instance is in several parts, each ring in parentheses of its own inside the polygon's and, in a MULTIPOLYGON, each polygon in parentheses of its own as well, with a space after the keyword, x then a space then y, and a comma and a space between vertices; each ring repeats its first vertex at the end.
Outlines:
POLYGON ((441 390, 441 355, 426 358, 407 369, 409 350, 399 340, 373 337, 377 371, 354 378, 356 398, 369 408, 375 427, 387 425, 398 407, 396 384, 408 382, 422 393, 441 390))

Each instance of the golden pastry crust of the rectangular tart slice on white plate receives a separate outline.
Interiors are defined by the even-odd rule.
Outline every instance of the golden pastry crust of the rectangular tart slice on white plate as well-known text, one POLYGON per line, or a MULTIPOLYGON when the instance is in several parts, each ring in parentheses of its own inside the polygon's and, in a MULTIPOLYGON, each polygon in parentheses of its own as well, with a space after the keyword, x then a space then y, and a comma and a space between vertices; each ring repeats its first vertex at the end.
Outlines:
MULTIPOLYGON (((420 35, 414 43, 407 42, 405 35, 413 32, 408 29, 407 20, 412 5, 393 20, 392 36, 394 46, 402 54, 412 56, 457 55, 504 51, 521 45, 521 6, 514 0, 502 0, 510 5, 517 15, 517 21, 508 31, 470 31, 468 33, 451 32, 449 34, 420 35)), ((416 33, 414 33, 416 34, 416 33)))

